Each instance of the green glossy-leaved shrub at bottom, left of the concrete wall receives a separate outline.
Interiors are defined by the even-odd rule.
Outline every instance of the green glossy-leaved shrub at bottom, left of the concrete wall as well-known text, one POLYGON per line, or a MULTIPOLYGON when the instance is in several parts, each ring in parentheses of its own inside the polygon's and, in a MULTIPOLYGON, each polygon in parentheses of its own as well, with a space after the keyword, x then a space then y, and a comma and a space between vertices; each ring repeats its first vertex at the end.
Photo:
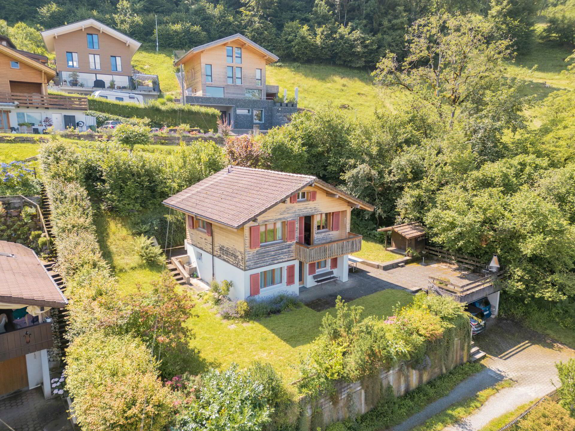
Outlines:
MULTIPOLYGON (((194 399, 182 405, 176 429, 258 431, 270 424, 274 408, 284 398, 281 380, 270 365, 256 364, 245 371, 232 364, 200 376, 194 399)), ((188 398, 188 394, 183 394, 188 398)))

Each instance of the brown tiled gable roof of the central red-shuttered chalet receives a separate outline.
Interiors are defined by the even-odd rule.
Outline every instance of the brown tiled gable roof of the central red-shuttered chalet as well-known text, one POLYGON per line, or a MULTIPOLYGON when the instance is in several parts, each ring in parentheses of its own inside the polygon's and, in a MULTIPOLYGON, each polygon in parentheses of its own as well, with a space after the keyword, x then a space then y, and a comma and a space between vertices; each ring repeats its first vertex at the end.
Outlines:
POLYGON ((239 229, 294 193, 315 186, 359 208, 374 207, 313 175, 230 166, 167 198, 163 203, 187 214, 239 229))

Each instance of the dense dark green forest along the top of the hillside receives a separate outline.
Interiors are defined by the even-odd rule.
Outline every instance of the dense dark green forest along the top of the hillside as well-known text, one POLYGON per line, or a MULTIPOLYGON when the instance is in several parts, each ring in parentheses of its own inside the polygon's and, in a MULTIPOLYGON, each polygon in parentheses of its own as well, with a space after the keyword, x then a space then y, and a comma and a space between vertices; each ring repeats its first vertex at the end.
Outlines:
MULTIPOLYGON (((157 16, 161 49, 187 50, 240 32, 283 60, 374 67, 388 51, 401 59, 406 29, 442 11, 488 18, 498 29, 492 37, 513 40, 518 53, 529 49, 542 20, 545 39, 573 44, 574 5, 575 0, 6 0, 0 2, 0 20, 7 21, 0 22, 0 33, 37 39, 34 29, 95 18, 152 46, 157 16)), ((28 48, 44 49, 41 43, 28 48)))

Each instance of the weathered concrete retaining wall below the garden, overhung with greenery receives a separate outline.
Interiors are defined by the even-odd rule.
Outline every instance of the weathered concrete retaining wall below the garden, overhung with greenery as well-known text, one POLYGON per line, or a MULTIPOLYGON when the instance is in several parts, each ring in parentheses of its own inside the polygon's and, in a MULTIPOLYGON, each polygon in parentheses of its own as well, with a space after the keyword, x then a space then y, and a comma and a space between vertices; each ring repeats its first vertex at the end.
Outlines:
POLYGON ((416 370, 409 364, 401 363, 392 370, 379 370, 378 374, 361 382, 336 384, 336 394, 325 396, 318 401, 303 401, 304 410, 300 418, 300 430, 316 431, 317 427, 346 418, 367 413, 373 409, 388 386, 396 396, 401 396, 440 375, 453 370, 469 359, 469 344, 456 338, 450 345, 447 355, 442 352, 430 354, 431 365, 416 370))

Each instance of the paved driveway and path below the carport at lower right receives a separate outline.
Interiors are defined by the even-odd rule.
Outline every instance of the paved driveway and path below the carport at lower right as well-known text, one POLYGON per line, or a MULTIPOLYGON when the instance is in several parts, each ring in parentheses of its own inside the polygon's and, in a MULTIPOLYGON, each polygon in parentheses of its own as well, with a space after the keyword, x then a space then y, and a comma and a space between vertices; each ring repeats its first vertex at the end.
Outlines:
POLYGON ((488 368, 464 380, 447 397, 431 403, 393 431, 408 431, 499 380, 513 380, 512 387, 497 392, 475 413, 443 431, 479 430, 502 414, 554 390, 553 383, 558 384, 555 363, 575 357, 572 349, 517 322, 489 319, 488 325, 488 330, 475 339, 477 347, 488 354, 482 361, 488 368))

